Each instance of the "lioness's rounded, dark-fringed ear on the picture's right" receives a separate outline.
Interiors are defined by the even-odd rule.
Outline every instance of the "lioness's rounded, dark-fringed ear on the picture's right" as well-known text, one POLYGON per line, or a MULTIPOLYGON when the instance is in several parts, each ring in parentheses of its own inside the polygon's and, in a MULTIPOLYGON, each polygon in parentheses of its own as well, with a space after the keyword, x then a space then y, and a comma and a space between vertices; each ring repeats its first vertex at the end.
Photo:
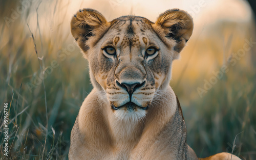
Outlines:
POLYGON ((193 33, 193 19, 180 9, 167 10, 160 14, 156 25, 159 25, 168 39, 176 40, 174 50, 180 52, 193 33))

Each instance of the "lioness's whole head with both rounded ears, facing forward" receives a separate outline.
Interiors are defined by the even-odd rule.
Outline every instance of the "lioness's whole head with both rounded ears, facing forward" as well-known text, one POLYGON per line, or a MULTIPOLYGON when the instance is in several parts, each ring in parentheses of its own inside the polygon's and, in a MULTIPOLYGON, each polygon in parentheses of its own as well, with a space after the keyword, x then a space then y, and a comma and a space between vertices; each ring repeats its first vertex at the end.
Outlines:
POLYGON ((89 61, 94 87, 114 114, 141 118, 168 85, 193 21, 184 11, 168 10, 156 23, 137 16, 107 22, 99 12, 83 9, 73 17, 71 31, 89 61))

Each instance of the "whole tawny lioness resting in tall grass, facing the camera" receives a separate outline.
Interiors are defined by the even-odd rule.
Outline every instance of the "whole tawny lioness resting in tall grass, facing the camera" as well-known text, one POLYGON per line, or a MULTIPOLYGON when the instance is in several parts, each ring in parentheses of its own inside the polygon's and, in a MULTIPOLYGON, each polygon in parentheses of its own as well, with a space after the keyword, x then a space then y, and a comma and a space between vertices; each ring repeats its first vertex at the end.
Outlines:
POLYGON ((108 22, 83 9, 72 18, 71 32, 89 61, 94 89, 72 129, 69 158, 198 159, 169 86, 172 62, 193 32, 191 16, 173 9, 155 23, 138 16, 108 22))

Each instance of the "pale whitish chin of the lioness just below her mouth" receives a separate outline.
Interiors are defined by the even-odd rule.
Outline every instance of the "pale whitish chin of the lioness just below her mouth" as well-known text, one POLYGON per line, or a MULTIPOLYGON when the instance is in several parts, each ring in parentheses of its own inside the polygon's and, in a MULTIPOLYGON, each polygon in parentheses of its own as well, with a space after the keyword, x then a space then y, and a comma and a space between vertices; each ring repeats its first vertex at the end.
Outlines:
POLYGON ((146 116, 146 110, 148 109, 148 106, 143 108, 133 102, 128 102, 119 107, 111 105, 111 107, 114 110, 114 115, 117 119, 134 122, 142 120, 146 116))

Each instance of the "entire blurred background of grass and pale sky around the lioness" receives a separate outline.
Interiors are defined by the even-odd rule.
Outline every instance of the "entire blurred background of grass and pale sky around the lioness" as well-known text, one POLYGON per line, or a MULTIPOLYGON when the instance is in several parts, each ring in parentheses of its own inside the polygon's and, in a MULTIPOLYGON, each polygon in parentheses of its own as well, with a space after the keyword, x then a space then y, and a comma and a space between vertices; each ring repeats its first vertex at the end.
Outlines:
POLYGON ((109 21, 122 15, 155 21, 172 8, 190 13, 194 33, 173 64, 170 82, 187 143, 199 157, 232 152, 256 159, 255 7, 253 0, 1 0, 1 159, 4 102, 8 159, 68 158, 71 129, 92 90, 88 62, 70 33, 70 20, 82 8, 109 21))

